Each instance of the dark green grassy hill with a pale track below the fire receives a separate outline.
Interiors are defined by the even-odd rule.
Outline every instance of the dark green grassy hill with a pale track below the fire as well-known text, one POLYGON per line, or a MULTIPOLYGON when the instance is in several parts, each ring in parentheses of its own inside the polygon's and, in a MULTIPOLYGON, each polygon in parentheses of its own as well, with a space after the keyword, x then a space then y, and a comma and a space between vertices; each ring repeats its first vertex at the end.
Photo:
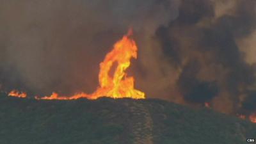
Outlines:
POLYGON ((242 144, 246 120, 164 100, 35 100, 0 94, 1 144, 242 144))

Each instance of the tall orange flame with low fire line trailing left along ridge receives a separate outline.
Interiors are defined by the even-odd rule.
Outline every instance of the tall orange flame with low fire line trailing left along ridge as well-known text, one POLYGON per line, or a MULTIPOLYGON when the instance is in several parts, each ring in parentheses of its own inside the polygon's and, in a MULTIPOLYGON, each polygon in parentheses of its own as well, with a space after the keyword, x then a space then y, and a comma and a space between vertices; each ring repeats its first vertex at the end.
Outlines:
POLYGON ((60 99, 70 100, 79 98, 97 99, 99 97, 112 97, 114 99, 129 97, 132 99, 145 99, 145 93, 134 89, 134 77, 127 77, 125 70, 131 65, 131 58, 137 58, 138 47, 132 39, 132 29, 127 35, 113 45, 104 61, 100 63, 99 84, 92 94, 77 93, 71 97, 60 96, 58 93, 52 93, 50 96, 35 97, 36 99, 60 99), (109 71, 113 63, 117 63, 113 77, 109 76, 109 71))

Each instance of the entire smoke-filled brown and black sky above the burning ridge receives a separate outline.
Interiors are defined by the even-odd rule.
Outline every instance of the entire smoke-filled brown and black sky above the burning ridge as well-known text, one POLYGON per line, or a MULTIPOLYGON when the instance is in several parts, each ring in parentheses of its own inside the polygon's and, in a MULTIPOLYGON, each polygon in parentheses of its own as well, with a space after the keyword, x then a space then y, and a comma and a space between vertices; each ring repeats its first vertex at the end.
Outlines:
POLYGON ((100 61, 132 27, 139 50, 128 72, 147 97, 210 102, 226 113, 255 109, 255 4, 1 0, 1 85, 39 95, 91 93, 100 61))

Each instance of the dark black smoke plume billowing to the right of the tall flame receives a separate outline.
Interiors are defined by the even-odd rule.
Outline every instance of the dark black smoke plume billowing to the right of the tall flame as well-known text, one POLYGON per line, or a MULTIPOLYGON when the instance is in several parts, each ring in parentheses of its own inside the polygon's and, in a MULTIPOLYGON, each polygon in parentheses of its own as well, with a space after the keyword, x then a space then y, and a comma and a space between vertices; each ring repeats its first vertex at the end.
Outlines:
POLYGON ((255 4, 181 1, 177 19, 157 29, 163 56, 181 69, 177 86, 186 102, 211 101, 215 109, 236 113, 248 101, 244 97, 255 97, 249 92, 255 66, 244 47, 255 31, 255 4))

